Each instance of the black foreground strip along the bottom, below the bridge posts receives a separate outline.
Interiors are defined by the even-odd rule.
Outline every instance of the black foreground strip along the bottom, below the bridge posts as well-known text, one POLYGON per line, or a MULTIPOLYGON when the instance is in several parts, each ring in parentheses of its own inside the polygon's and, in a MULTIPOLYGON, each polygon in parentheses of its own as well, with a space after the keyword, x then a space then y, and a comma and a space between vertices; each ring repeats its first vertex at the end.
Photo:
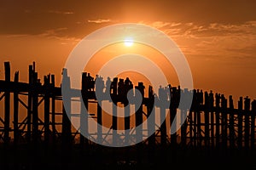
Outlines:
POLYGON ((193 147, 149 148, 147 145, 108 148, 90 145, 2 146, 0 169, 256 169, 253 150, 193 147))

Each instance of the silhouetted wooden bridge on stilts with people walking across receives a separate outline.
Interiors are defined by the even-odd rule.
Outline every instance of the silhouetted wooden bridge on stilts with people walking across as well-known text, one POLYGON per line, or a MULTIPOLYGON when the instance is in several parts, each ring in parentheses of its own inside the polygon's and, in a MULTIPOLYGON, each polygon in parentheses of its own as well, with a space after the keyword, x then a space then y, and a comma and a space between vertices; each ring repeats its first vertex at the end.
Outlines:
MULTIPOLYGON (((108 150, 107 153, 111 150, 115 161, 127 159, 130 160, 130 163, 131 160, 135 160, 137 163, 143 162, 145 153, 148 156, 148 162, 153 162, 156 159, 155 156, 160 156, 160 161, 166 161, 168 159, 166 155, 169 152, 172 155, 172 160, 174 160, 175 156, 180 154, 177 150, 187 149, 203 150, 203 152, 209 152, 210 155, 211 150, 218 150, 220 155, 233 153, 232 151, 236 150, 236 154, 242 152, 253 157, 255 147, 255 99, 240 97, 237 101, 238 107, 235 108, 231 95, 226 97, 224 94, 213 94, 212 91, 181 89, 179 86, 172 87, 171 85, 158 89, 159 95, 156 95, 154 89, 150 85, 146 88, 143 82, 138 82, 135 86, 129 81, 129 78, 124 80, 114 77, 113 81, 108 79, 105 83, 101 77, 90 77, 90 74, 86 72, 82 74, 81 89, 73 89, 70 86, 70 78, 66 69, 63 69, 62 72, 61 85, 65 85, 62 88, 70 91, 73 96, 62 96, 61 87, 55 85, 55 75, 44 76, 44 82, 41 82, 35 68, 35 63, 29 65, 28 82, 19 82, 18 71, 15 72, 15 78, 11 81, 9 62, 4 62, 5 79, 0 80, 0 102, 3 102, 3 114, 0 116, 0 143, 3 154, 0 157, 3 157, 3 160, 5 159, 3 161, 5 167, 9 166, 6 163, 9 162, 9 160, 6 160, 7 157, 17 161, 20 159, 20 152, 24 150, 26 150, 24 152, 28 157, 27 161, 32 161, 38 165, 37 160, 40 160, 40 156, 41 158, 42 155, 51 157, 52 151, 57 152, 59 147, 61 154, 58 156, 61 157, 59 159, 61 159, 64 167, 68 166, 74 152, 82 154, 82 156, 79 155, 81 157, 90 153, 90 156, 85 156, 86 159, 95 158, 96 162, 99 160, 102 162, 101 154, 103 155, 104 150, 108 150), (102 84, 99 83, 96 86, 95 81, 102 81, 102 84), (105 87, 109 87, 110 90, 105 91, 105 87), (135 120, 133 120, 135 126, 143 123, 150 114, 155 114, 154 118, 148 120, 147 128, 155 129, 155 133, 149 136, 147 136, 148 129, 141 127, 134 131, 131 127, 130 107, 125 107, 125 117, 123 119, 125 129, 131 130, 125 131, 123 136, 114 131, 118 129, 118 121, 120 120, 117 105, 134 105, 132 102, 129 103, 126 98, 130 89, 137 89, 143 96, 142 105, 136 106, 138 110, 135 112, 135 120), (145 90, 148 90, 148 97, 145 96, 145 90), (103 96, 108 96, 109 93, 113 102, 112 125, 109 127, 108 133, 102 132, 101 126, 96 128, 96 133, 90 134, 88 130, 90 119, 95 119, 99 125, 103 125, 102 116, 104 112, 102 111, 101 102, 109 100, 108 97, 97 100, 96 93, 101 93, 103 96), (193 95, 191 107, 179 108, 178 103, 181 94, 193 95), (56 103, 61 102, 61 105, 63 105, 63 98, 66 99, 67 103, 69 102, 67 105, 71 105, 72 98, 79 96, 82 96, 79 102, 84 102, 86 108, 89 107, 90 103, 97 105, 96 112, 86 114, 86 111, 81 107, 80 113, 72 113, 71 107, 64 106, 62 106, 62 111, 56 111, 56 103), (154 101, 158 101, 155 106, 154 101), (43 109, 38 109, 40 106, 43 109), (21 107, 23 107, 22 112, 21 107), (26 112, 24 112, 24 109, 26 112), (160 114, 156 114, 156 109, 159 109, 160 114), (166 116, 166 111, 168 111, 169 116, 166 116), (78 117, 81 122, 78 130, 73 130, 70 121, 73 116, 78 117), (180 129, 177 129, 176 133, 170 135, 170 126, 177 127, 175 123, 179 123, 175 121, 175 116, 179 117, 183 124, 180 129), (160 126, 157 126, 157 119, 162 122, 160 126), (57 122, 56 120, 61 121, 57 122), (85 138, 79 132, 88 134, 91 138, 85 138), (107 137, 110 140, 107 140, 107 137), (131 147, 110 149, 92 142, 93 140, 100 144, 113 142, 113 144, 125 143, 129 145, 136 141, 143 142, 131 145, 131 147), (76 147, 78 150, 73 151, 73 148, 76 147), (10 150, 15 153, 14 156, 7 156, 9 153, 13 153, 10 150), (134 152, 135 154, 131 154, 131 156, 136 158, 131 158, 131 156, 129 158, 127 156, 119 158, 119 150, 126 154, 134 152), (93 155, 94 151, 96 156, 93 155), (157 153, 160 153, 160 155, 157 155, 157 153)), ((133 95, 138 95, 138 91, 135 91, 133 95)), ((109 161, 109 158, 107 160, 109 161)), ((17 162, 17 165, 14 164, 14 166, 23 165, 22 162, 17 162)), ((26 162, 24 166, 29 169, 28 164, 26 162)))

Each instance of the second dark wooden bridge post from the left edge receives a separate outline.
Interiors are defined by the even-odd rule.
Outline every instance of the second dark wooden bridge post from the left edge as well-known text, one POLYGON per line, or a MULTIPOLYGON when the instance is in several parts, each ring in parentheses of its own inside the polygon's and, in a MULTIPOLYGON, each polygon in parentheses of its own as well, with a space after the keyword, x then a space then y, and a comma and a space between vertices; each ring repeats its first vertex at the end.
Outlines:
MULTIPOLYGON (((15 72, 15 83, 19 82, 19 71, 15 72)), ((19 141, 19 90, 16 89, 14 93, 14 143, 15 145, 18 144, 19 141)))

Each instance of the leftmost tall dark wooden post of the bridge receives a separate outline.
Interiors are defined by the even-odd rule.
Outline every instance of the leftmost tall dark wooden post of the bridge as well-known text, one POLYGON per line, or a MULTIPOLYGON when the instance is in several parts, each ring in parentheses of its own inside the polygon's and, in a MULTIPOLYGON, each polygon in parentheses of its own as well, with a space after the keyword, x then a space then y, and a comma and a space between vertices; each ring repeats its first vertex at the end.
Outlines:
MULTIPOLYGON (((5 82, 10 82, 10 65, 4 62, 5 82)), ((9 118, 10 118, 10 92, 6 90, 4 93, 4 134, 3 140, 5 144, 9 143, 9 118)))

